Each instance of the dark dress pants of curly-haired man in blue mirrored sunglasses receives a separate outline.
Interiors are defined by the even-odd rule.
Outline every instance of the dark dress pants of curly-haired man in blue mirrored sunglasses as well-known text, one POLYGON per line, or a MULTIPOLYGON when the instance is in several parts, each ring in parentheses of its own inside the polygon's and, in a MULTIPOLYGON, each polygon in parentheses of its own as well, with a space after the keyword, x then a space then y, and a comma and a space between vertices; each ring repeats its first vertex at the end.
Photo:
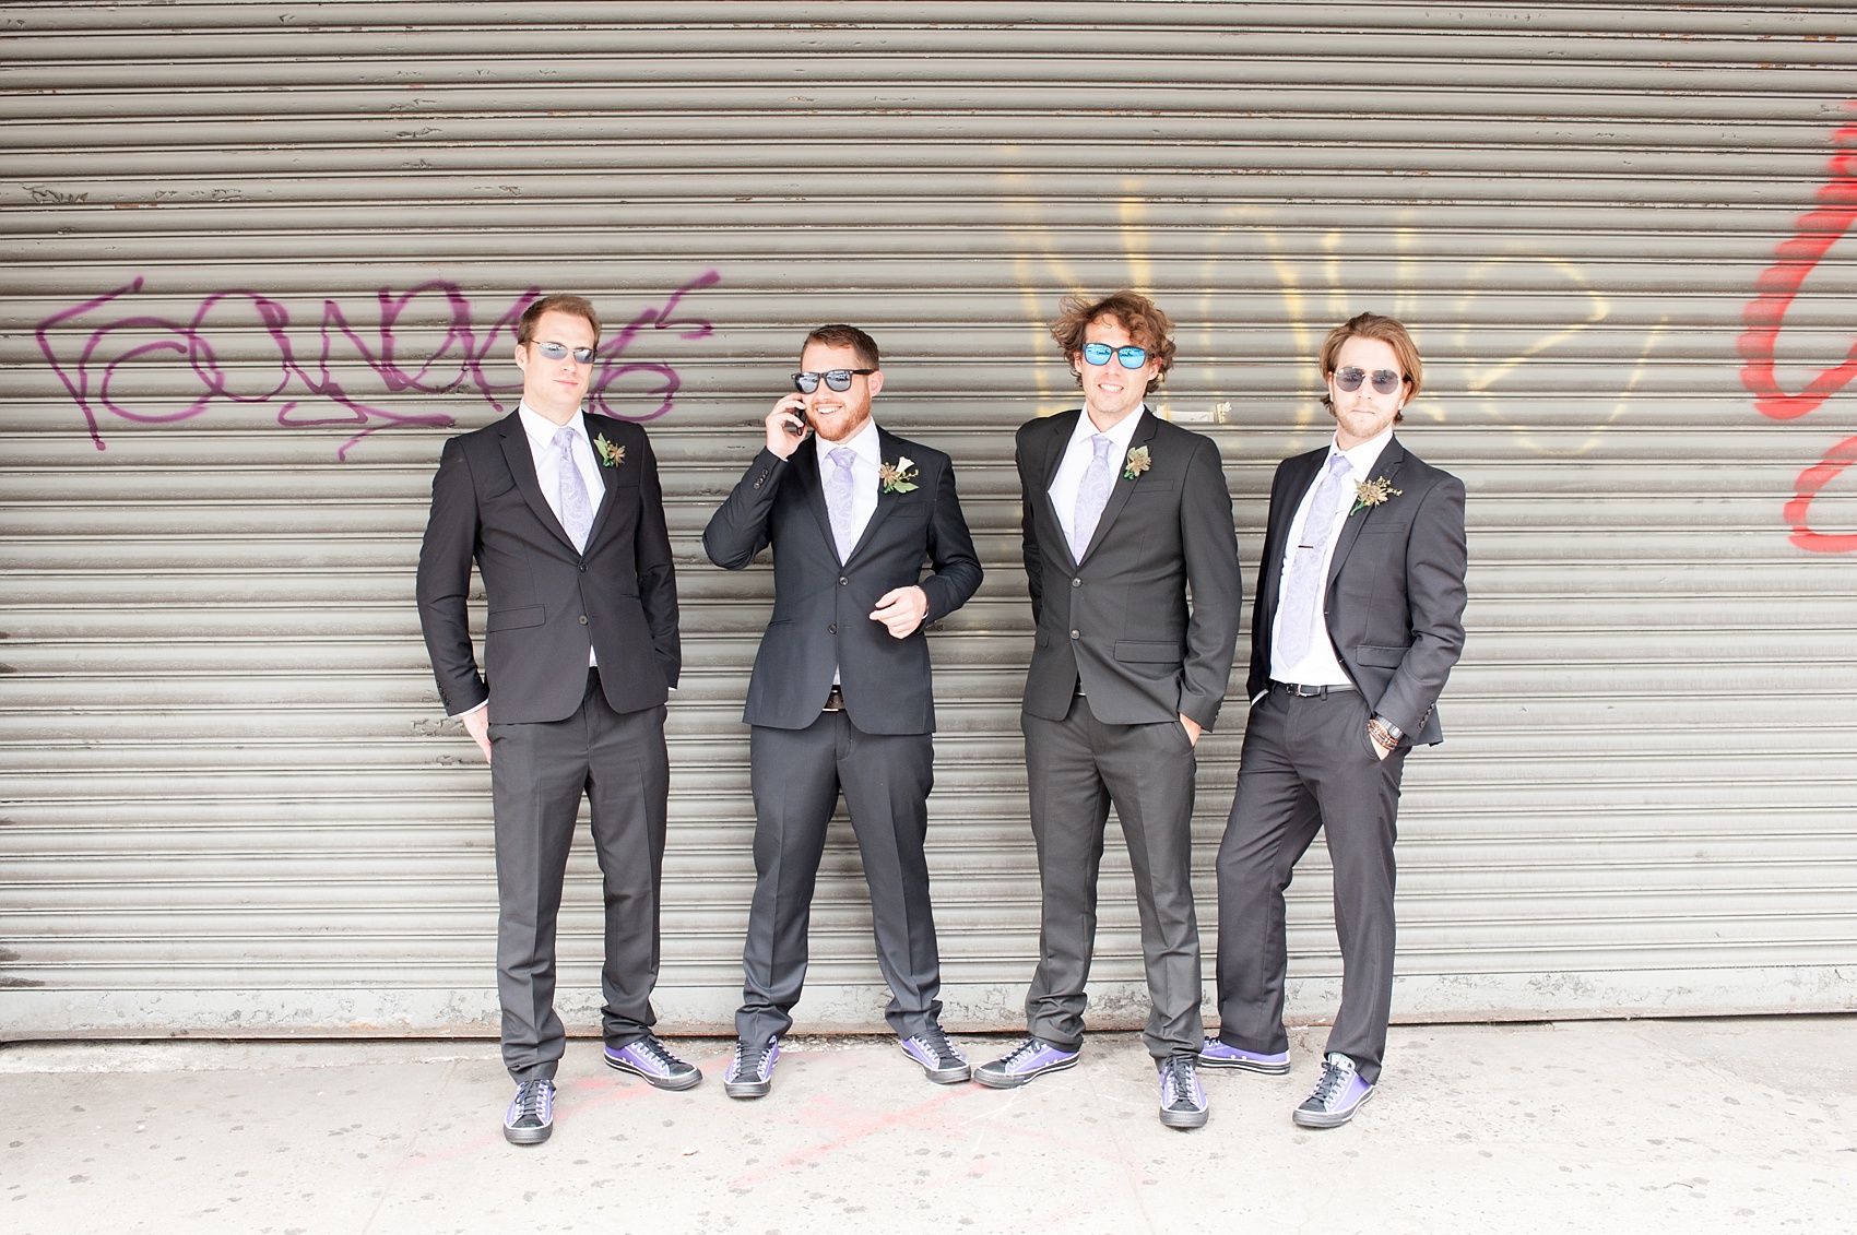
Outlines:
POLYGON ((1192 908, 1192 739, 1179 721, 1103 724, 1088 700, 1062 721, 1023 715, 1032 839, 1044 906, 1038 971, 1025 997, 1031 1033, 1066 1051, 1083 1044, 1084 984, 1096 951, 1096 877, 1109 806, 1135 871, 1155 1059, 1198 1053, 1200 923, 1192 908))

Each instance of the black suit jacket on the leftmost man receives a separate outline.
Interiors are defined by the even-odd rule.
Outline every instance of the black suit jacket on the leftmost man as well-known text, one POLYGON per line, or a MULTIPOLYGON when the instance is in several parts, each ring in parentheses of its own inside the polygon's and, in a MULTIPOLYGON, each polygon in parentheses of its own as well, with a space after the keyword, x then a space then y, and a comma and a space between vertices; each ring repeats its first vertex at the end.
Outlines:
POLYGON ((631 422, 589 414, 587 433, 626 453, 617 466, 602 461, 605 498, 585 553, 548 509, 516 412, 446 442, 418 600, 451 715, 488 698, 498 722, 563 721, 587 693, 589 646, 615 711, 656 708, 678 683, 678 581, 657 459, 631 422), (464 609, 472 559, 488 607, 483 674, 464 609))

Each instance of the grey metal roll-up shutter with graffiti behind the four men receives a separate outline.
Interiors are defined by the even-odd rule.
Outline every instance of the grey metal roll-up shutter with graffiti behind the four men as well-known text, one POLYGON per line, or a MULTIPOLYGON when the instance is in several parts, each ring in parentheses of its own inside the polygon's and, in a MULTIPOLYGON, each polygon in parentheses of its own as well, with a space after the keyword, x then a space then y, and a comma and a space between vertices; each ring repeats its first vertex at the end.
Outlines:
MULTIPOLYGON (((947 1021, 1036 953, 1012 429, 1071 288, 1179 321, 1255 578, 1315 347, 1408 319, 1471 492, 1469 650, 1408 765, 1404 1018, 1857 1007, 1844 6, 13 4, 0 15, 0 1034, 490 1033, 488 776, 412 609, 440 442, 535 290, 609 316, 680 561, 659 1008, 724 1029, 771 574, 698 535, 802 332, 954 457, 988 579, 932 635, 947 1021), (620 345, 622 344, 622 345, 620 345)), ((481 618, 481 613, 479 613, 481 618)), ((1242 665, 1242 652, 1240 652, 1242 665)), ((1242 669, 1237 689, 1242 691, 1242 669)), ((1211 858, 1242 696, 1201 745, 1211 858)), ((1114 826, 1114 825, 1112 825, 1114 826)), ((1120 843, 1099 1025, 1144 1014, 1120 843)), ((1291 890, 1296 1018, 1339 994, 1291 890)), ((598 1003, 576 854, 561 1007, 598 1003)), ((1207 966, 1211 971, 1211 964, 1207 966)), ((877 1027, 856 849, 806 1027, 877 1027)))

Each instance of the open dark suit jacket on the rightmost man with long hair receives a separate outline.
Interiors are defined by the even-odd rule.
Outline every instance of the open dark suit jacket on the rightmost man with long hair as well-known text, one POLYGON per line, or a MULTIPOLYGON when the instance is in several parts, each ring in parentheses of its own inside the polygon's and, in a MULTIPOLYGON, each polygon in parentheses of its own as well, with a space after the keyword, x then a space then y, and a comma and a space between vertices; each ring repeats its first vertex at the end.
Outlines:
MULTIPOLYGON (((1328 446, 1285 459, 1270 481, 1270 526, 1252 617, 1252 698, 1270 687, 1283 542, 1326 459, 1328 446)), ((1463 654, 1463 481, 1408 453, 1396 435, 1380 453, 1374 477, 1400 492, 1354 511, 1341 526, 1322 617, 1341 669, 1369 708, 1406 730, 1408 743, 1432 745, 1445 739, 1434 704, 1463 654)))

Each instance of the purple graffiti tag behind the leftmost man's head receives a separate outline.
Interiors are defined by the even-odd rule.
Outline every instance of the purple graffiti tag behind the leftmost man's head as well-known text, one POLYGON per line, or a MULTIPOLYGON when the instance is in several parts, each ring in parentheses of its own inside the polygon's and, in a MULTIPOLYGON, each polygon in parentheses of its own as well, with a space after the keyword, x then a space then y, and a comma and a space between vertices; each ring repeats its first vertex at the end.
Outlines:
MULTIPOLYGON (((626 420, 654 420, 669 412, 682 384, 676 370, 659 360, 622 357, 646 329, 670 331, 683 340, 709 336, 708 321, 678 318, 678 306, 691 292, 719 280, 717 271, 704 271, 665 297, 663 305, 641 308, 600 347, 600 371, 589 403, 626 420), (639 416, 611 407, 615 396, 609 386, 631 373, 656 379, 646 396, 657 403, 639 416)), ((136 279, 63 308, 37 327, 39 351, 84 412, 97 449, 108 449, 102 433, 106 414, 136 423, 169 423, 206 412, 214 399, 275 407, 277 423, 284 427, 355 425, 357 433, 336 448, 336 457, 344 461, 349 449, 381 429, 442 429, 455 423, 448 412, 381 407, 379 396, 475 392, 503 412, 505 396, 522 390, 520 375, 496 381, 485 373, 485 360, 498 347, 514 349, 516 321, 540 295, 539 288, 524 290, 483 329, 474 325, 472 301, 459 284, 435 279, 405 292, 375 292, 375 325, 325 299, 314 327, 293 327, 282 303, 243 288, 208 295, 186 319, 126 312, 126 297, 143 292, 143 286, 145 280, 136 279), (78 340, 74 345, 72 336, 78 340), (58 338, 67 342, 63 351, 56 345, 58 338), (256 357, 254 340, 262 340, 256 357), (180 396, 186 399, 182 405, 175 405, 175 396, 134 392, 132 379, 150 368, 167 383, 176 371, 184 373, 189 390, 180 396)))

